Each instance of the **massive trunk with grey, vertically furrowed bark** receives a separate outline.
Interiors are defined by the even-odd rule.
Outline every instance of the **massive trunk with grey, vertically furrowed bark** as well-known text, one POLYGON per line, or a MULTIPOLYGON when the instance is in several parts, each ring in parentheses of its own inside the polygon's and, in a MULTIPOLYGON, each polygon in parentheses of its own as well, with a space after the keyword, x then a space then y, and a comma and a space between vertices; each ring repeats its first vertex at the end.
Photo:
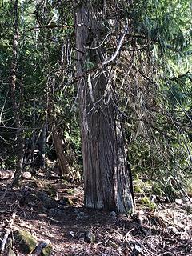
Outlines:
MULTIPOLYGON (((86 5, 78 6, 75 16, 77 74, 80 77, 88 62, 97 65, 103 61, 103 50, 102 46, 95 47, 101 39, 101 28, 93 10, 86 5), (88 51, 88 47, 96 49, 88 51)), ((107 73, 105 68, 97 75, 88 74, 88 79, 83 75, 79 81, 84 201, 89 208, 131 213, 134 203, 122 118, 108 90, 107 73)))

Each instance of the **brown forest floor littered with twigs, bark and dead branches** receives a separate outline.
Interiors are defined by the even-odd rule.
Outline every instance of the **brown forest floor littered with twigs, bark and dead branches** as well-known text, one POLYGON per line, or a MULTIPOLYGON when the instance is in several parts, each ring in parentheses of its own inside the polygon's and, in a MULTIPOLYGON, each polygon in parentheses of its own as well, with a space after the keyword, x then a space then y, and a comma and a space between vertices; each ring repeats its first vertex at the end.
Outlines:
MULTIPOLYGON (((128 218, 124 214, 85 209, 79 184, 42 176, 12 188, 10 181, 2 181, 0 238, 3 240, 15 213, 11 233, 26 230, 38 242, 50 242, 53 246, 50 255, 192 256, 189 207, 189 203, 187 206, 164 203, 149 210, 137 202, 137 213, 128 218)), ((12 247, 16 255, 25 255, 18 251, 16 242, 13 241, 12 247)))

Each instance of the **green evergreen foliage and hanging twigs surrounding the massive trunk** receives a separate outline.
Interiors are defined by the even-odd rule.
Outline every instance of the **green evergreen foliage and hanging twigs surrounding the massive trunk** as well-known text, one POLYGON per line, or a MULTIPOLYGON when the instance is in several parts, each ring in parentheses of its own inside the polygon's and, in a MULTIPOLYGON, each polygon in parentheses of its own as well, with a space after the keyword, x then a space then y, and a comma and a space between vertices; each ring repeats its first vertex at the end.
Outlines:
MULTIPOLYGON (((125 117, 129 161, 135 177, 162 182, 164 189, 175 186, 183 192, 192 165, 191 3, 128 2, 114 1, 103 6, 102 1, 91 1, 101 18, 106 56, 114 53, 128 20, 129 32, 110 69, 116 72, 113 98, 125 117)), ((46 158, 53 160, 55 123, 71 177, 79 178, 75 174, 82 170, 82 154, 74 8, 68 1, 19 1, 16 96, 23 138, 31 141, 34 136, 38 150, 46 122, 46 158)), ((13 23, 13 3, 2 1, 0 154, 3 159, 10 155, 4 162, 6 167, 14 166, 17 154, 9 86, 13 23)), ((86 64, 86 69, 96 68, 88 58, 86 64)))

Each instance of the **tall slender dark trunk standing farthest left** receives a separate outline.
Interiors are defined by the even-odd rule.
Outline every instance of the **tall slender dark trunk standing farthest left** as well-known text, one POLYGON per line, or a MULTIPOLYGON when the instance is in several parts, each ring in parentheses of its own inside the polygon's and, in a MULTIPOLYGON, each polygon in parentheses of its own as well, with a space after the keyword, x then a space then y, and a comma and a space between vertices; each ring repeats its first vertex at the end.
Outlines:
POLYGON ((17 162, 16 172, 14 174, 13 186, 18 185, 19 178, 22 173, 23 162, 23 142, 22 142, 22 128, 21 119, 19 116, 18 103, 16 100, 16 70, 17 70, 17 57, 18 57, 18 0, 14 1, 14 40, 13 40, 13 58, 10 70, 10 91, 11 99, 14 110, 15 124, 17 128, 17 162))

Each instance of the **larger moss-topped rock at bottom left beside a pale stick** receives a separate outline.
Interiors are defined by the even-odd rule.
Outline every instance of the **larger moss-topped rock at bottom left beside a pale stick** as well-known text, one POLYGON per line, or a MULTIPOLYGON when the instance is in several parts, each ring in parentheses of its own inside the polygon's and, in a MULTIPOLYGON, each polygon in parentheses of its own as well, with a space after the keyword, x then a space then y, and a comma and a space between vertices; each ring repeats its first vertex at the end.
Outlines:
POLYGON ((25 230, 14 231, 14 239, 22 254, 31 254, 37 246, 36 238, 25 230))

